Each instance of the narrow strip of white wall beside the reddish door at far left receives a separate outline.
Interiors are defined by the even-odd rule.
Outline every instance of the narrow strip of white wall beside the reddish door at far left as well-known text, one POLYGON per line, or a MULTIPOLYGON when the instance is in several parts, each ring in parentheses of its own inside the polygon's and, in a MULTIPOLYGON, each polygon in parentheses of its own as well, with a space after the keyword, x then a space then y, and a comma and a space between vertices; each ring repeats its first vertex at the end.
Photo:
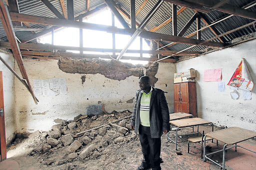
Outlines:
MULTIPOLYGON (((0 52, 0 56, 13 69, 14 58, 11 54, 0 52)), ((4 102, 4 119, 5 119, 5 137, 8 144, 16 131, 15 124, 15 97, 14 97, 14 75, 0 61, 0 71, 2 71, 3 80, 3 102, 4 102)))

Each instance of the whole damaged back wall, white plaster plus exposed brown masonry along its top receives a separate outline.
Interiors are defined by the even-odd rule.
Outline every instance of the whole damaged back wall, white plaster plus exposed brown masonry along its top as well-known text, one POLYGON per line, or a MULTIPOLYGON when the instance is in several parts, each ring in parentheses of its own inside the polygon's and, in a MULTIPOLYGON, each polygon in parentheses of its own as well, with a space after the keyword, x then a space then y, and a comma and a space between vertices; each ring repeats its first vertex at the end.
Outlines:
MULTIPOLYGON (((63 77, 66 79, 67 94, 38 95, 36 97, 39 102, 35 105, 25 87, 15 81, 18 132, 47 131, 55 124, 55 119, 72 120, 79 114, 85 115, 85 108, 90 105, 104 104, 106 112, 127 109, 132 111, 135 92, 139 89, 138 78, 144 72, 142 65, 134 67, 116 61, 110 63, 111 68, 109 65, 104 65, 105 61, 99 62, 98 60, 84 60, 79 63, 77 60, 75 62, 71 60, 58 62, 57 60, 23 58, 23 62, 30 82, 34 79, 63 77), (61 65, 62 63, 65 65, 61 65), (84 69, 88 68, 87 66, 96 66, 97 68, 84 69), (102 71, 107 69, 111 69, 111 74, 103 75, 102 71)), ((162 90, 168 92, 165 96, 170 111, 173 110, 171 79, 173 79, 174 68, 175 65, 172 63, 156 63, 154 66, 145 66, 146 74, 150 77, 155 76, 153 78, 154 82, 157 81, 155 87, 163 88, 162 90), (166 71, 168 74, 165 74, 166 71), (172 72, 170 73, 170 71, 172 72), (165 84, 168 84, 167 87, 165 84)))

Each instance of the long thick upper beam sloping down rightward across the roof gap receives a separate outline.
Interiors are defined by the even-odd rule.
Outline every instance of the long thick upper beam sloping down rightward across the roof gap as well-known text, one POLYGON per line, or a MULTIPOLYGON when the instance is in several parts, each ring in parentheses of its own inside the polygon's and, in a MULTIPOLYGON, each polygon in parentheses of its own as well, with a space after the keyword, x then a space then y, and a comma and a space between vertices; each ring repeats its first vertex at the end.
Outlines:
MULTIPOLYGON (((42 17, 42 16, 33 16, 33 15, 26 15, 21 13, 10 12, 10 16, 12 20, 22 21, 22 22, 65 26, 65 27, 76 27, 76 28, 92 29, 92 30, 106 31, 106 32, 126 34, 126 35, 132 35, 134 32, 134 29, 131 29, 131 28, 122 29, 122 28, 116 28, 116 27, 107 26, 107 25, 77 22, 77 21, 71 21, 66 19, 58 19, 58 18, 50 18, 50 17, 42 17)), ((198 39, 196 40, 191 38, 160 34, 160 33, 155 33, 150 31, 144 31, 144 30, 141 31, 139 36, 145 39, 178 42, 178 43, 192 44, 192 45, 197 45, 203 42, 202 40, 198 40, 198 39)), ((224 44, 219 42, 207 42, 207 43, 204 43, 203 46, 223 47, 224 44)))

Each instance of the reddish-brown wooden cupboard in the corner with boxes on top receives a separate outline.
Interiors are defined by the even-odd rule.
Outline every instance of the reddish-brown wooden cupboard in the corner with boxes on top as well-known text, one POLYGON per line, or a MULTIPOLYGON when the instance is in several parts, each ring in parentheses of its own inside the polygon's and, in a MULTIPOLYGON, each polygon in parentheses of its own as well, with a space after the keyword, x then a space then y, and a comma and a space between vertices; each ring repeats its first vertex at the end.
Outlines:
POLYGON ((174 113, 183 112, 197 117, 195 82, 174 83, 174 113))

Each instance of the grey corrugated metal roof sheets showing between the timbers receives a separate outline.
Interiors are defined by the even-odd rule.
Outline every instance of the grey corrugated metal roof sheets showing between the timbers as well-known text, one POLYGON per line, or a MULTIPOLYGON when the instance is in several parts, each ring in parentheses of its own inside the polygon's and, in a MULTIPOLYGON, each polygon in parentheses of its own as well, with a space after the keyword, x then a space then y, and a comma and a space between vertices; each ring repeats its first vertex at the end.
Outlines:
MULTIPOLYGON (((36 16, 45 16, 45 17, 56 17, 42 2, 41 0, 17 0, 19 11, 20 13, 29 14, 29 15, 36 15, 36 16)), ((49 0, 51 4, 61 13, 62 8, 60 5, 59 0, 49 0)), ((66 0, 64 1, 64 5, 66 7, 66 0)), ((129 13, 130 11, 130 1, 129 0, 114 0, 116 3, 118 3, 121 8, 129 13)), ((144 17, 149 13, 149 11, 152 9, 152 7, 156 4, 158 0, 148 0, 144 7, 140 10, 140 12, 136 15, 136 21, 140 23, 144 17)), ((242 7, 248 3, 250 3, 252 0, 229 0, 227 3, 232 4, 237 7, 242 7)), ((141 4, 144 2, 144 0, 135 0, 135 11, 139 9, 141 4)), ((104 0, 90 0, 89 3, 89 9, 93 9, 100 4, 104 3, 104 0)), ((81 13, 86 12, 87 10, 87 4, 86 0, 74 0, 74 16, 78 16, 81 13)), ((177 5, 177 10, 179 10, 181 6, 177 5)), ((171 17, 171 3, 164 1, 163 4, 159 7, 159 9, 155 12, 155 14, 152 16, 152 18, 149 20, 149 22, 146 24, 145 29, 149 30, 155 26, 160 25, 165 20, 169 19, 171 17)), ((248 8, 247 10, 251 10, 256 12, 256 6, 252 6, 248 8)), ((179 32, 183 26, 187 23, 187 21, 192 17, 192 15, 195 13, 194 10, 190 8, 185 8, 180 14, 177 15, 177 32, 179 32)), ((217 10, 210 11, 205 14, 205 16, 208 18, 209 21, 213 22, 219 18, 222 18, 223 16, 227 16, 228 14, 224 12, 220 12, 217 10)), ((124 18, 126 21, 127 19, 124 18)), ((232 30, 234 28, 237 28, 239 26, 242 26, 244 24, 252 22, 252 19, 240 17, 240 16, 232 16, 227 18, 226 20, 223 20, 219 23, 216 23, 213 25, 213 27, 220 33, 224 33, 226 31, 232 30)), ((50 28, 50 25, 42 25, 42 24, 34 24, 29 23, 31 28, 50 28)), ((201 19, 201 27, 205 26, 206 24, 201 19)), ((0 23, 0 26, 1 23, 0 23)), ((23 27, 26 27, 23 25, 23 27)), ((184 33, 183 37, 189 35, 190 33, 194 32, 196 30, 196 21, 194 21, 191 26, 188 28, 188 30, 184 33)), ((240 37, 242 35, 246 35, 252 32, 255 32, 256 28, 251 26, 247 26, 243 29, 237 30, 235 32, 232 32, 230 34, 224 35, 222 39, 224 42, 228 42, 234 38, 240 37)), ((39 31, 36 31, 39 32, 39 31)), ((159 29, 157 29, 155 32, 162 33, 162 34, 170 34, 172 35, 172 23, 171 21, 159 29)), ((32 33, 30 31, 16 31, 16 36, 20 39, 24 39, 27 36, 30 36, 32 33)), ((207 40, 209 38, 214 37, 215 34, 210 30, 210 28, 206 28, 205 30, 201 31, 201 39, 207 40)), ((4 30, 0 30, 0 38, 3 41, 7 41, 6 34, 4 30)), ((190 38, 196 38, 196 34, 191 36, 190 38)), ((220 42, 219 39, 214 39, 215 42, 220 42)), ((168 44, 170 42, 163 42, 164 44, 168 44)), ((182 50, 191 45, 187 44, 174 44, 169 47, 170 50, 182 50)), ((195 46, 193 48, 190 48, 189 51, 199 51, 204 49, 204 46, 195 46)))

